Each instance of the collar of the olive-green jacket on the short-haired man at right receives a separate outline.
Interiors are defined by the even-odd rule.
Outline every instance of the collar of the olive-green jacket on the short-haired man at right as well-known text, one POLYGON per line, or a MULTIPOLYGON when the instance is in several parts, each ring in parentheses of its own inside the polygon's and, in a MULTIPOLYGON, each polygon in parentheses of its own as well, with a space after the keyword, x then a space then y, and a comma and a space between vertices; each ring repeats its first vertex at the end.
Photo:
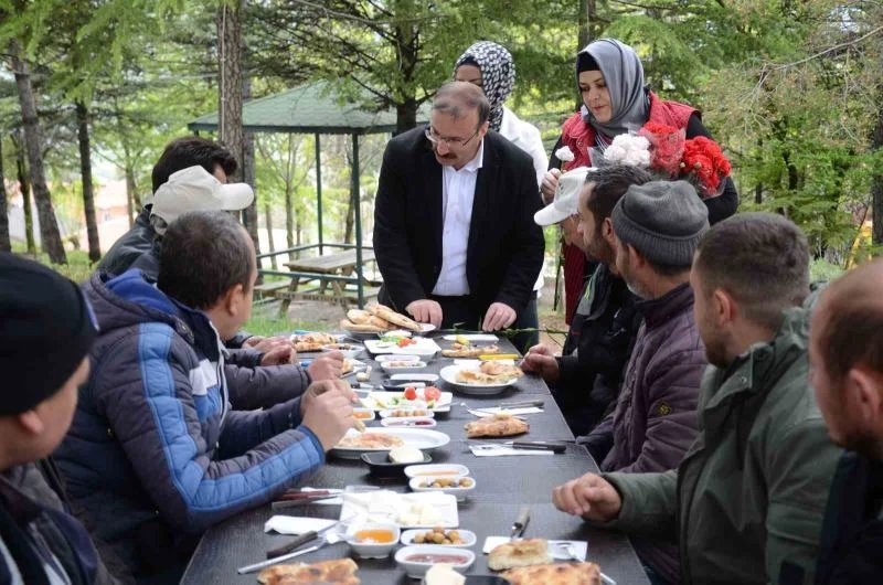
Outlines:
POLYGON ((785 311, 776 337, 769 342, 754 343, 728 368, 710 366, 703 383, 706 408, 714 408, 728 397, 743 392, 767 392, 791 364, 806 359, 809 311, 792 308, 785 311))

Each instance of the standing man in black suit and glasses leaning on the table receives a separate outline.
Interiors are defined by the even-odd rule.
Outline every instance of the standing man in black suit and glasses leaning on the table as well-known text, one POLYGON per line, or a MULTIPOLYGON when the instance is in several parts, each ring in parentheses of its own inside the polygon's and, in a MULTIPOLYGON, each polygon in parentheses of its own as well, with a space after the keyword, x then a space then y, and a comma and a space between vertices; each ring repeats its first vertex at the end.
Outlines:
POLYGON ((488 131, 479 87, 438 89, 428 127, 386 145, 374 206, 380 301, 421 322, 511 326, 543 264, 529 155, 488 131))

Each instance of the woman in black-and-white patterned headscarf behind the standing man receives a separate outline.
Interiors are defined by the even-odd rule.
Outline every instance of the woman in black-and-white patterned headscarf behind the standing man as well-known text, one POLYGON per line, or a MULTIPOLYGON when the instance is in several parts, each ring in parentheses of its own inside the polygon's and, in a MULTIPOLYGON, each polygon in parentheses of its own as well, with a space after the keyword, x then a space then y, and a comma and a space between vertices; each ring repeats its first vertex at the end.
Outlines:
MULTIPOLYGON (((524 120, 519 119, 511 109, 506 107, 507 98, 515 87, 515 64, 512 55, 504 46, 490 41, 479 41, 467 49, 454 65, 454 81, 467 82, 481 87, 485 97, 490 103, 490 129, 500 132, 513 145, 521 148, 533 159, 536 171, 538 189, 545 177, 546 155, 540 130, 524 120)), ((540 318, 536 312, 536 297, 543 288, 543 273, 533 287, 534 298, 518 317, 513 327, 515 329, 539 329, 540 318)), ((540 341, 539 331, 521 333, 512 342, 525 351, 540 341)))

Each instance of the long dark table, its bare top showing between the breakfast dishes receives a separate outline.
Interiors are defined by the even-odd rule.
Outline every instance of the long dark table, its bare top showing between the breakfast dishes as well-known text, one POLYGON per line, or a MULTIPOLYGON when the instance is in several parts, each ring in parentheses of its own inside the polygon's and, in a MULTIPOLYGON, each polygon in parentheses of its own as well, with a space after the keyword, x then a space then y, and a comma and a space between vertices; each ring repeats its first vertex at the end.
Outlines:
MULTIPOLYGON (((437 341, 443 348, 449 343, 442 339, 437 341)), ((515 352, 511 343, 506 340, 501 340, 500 345, 504 352, 515 352)), ((438 372, 450 362, 451 360, 445 358, 436 358, 429 363, 427 371, 438 372)), ((373 370, 371 382, 376 384, 384 374, 379 368, 373 370)), ((442 390, 451 390, 442 381, 438 385, 442 390)), ((478 543, 472 547, 477 556, 476 563, 468 574, 492 573, 487 567, 487 555, 481 554, 485 538, 508 535, 519 508, 529 504, 531 520, 525 538, 587 541, 588 560, 599 563, 602 571, 619 585, 649 583, 631 544, 623 533, 588 526, 581 519, 558 512, 552 506, 552 488, 578 475, 597 471, 597 466, 583 447, 572 443, 574 437, 541 379, 526 375, 497 396, 476 397, 455 393, 450 414, 437 421, 436 430, 447 433, 451 442, 433 453, 433 462, 466 465, 476 479, 475 491, 459 504, 460 528, 471 530, 478 535, 478 543), (469 406, 489 407, 503 401, 529 398, 542 398, 545 405, 543 413, 526 415, 531 430, 524 438, 571 442, 564 454, 476 457, 469 451, 462 426, 469 421, 475 421, 475 416, 466 412, 459 405, 460 402, 466 402, 469 406)), ((370 423, 370 425, 375 424, 377 423, 370 423)), ((362 461, 333 458, 304 485, 319 488, 375 485, 401 492, 408 490, 404 478, 381 482, 368 475, 368 467, 362 461)), ((340 507, 302 506, 291 509, 290 514, 337 519, 340 507)), ((240 575, 236 568, 264 560, 266 551, 291 539, 291 536, 264 533, 264 523, 272 515, 274 514, 267 504, 209 530, 202 538, 181 583, 185 585, 256 583, 255 574, 240 575)), ((348 555, 350 555, 349 545, 338 543, 306 554, 297 561, 310 563, 348 555)), ((416 583, 396 566, 392 556, 385 560, 355 560, 363 584, 416 583)))

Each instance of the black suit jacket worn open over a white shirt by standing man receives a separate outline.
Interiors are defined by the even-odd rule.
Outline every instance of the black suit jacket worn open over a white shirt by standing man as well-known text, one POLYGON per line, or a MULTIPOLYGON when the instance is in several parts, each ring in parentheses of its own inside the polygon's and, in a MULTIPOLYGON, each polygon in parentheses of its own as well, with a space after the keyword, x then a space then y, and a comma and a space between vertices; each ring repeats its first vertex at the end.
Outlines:
MULTIPOLYGON (((442 164, 424 130, 415 128, 386 145, 374 204, 374 253, 385 289, 381 301, 401 312, 432 294, 442 270, 442 164)), ((530 156, 489 131, 466 257, 469 290, 482 313, 498 301, 520 313, 532 297, 543 265, 543 232, 533 222, 540 206, 530 156)))

